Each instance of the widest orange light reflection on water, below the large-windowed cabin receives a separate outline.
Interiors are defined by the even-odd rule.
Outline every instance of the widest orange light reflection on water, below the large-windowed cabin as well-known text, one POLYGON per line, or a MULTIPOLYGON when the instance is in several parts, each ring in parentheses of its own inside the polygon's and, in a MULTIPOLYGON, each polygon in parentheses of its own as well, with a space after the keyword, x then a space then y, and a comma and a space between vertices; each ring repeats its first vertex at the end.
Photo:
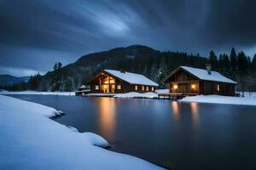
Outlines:
POLYGON ((111 98, 100 98, 98 104, 98 128, 102 136, 112 138, 116 125, 115 100, 111 98))

